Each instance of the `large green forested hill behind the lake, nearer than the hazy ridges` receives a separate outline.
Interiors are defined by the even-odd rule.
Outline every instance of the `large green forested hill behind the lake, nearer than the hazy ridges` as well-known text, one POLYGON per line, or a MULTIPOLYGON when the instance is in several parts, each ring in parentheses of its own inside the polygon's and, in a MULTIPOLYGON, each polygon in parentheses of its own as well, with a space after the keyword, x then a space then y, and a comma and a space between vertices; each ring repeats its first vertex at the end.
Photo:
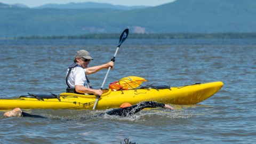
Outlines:
POLYGON ((138 10, 0 7, 0 37, 119 33, 252 33, 254 0, 177 0, 138 10))

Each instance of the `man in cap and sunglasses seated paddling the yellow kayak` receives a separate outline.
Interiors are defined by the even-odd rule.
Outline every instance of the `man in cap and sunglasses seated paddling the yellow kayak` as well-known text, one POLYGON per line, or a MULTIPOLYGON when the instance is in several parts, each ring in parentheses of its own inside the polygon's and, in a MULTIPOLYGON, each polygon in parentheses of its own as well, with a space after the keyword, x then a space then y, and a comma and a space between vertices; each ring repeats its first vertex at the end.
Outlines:
POLYGON ((74 63, 69 66, 66 75, 66 83, 68 85, 67 92, 80 94, 101 95, 101 90, 93 89, 87 75, 97 73, 103 68, 114 68, 114 62, 110 61, 100 66, 87 67, 90 61, 90 53, 85 50, 76 52, 74 63))

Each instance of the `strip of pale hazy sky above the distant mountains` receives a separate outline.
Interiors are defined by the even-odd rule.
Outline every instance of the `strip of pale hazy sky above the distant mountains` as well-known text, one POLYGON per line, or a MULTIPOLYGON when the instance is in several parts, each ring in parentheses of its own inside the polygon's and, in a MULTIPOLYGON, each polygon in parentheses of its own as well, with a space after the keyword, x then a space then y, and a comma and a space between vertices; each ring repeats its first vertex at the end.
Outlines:
POLYGON ((36 7, 44 4, 67 4, 70 2, 83 3, 83 2, 95 2, 95 3, 109 3, 114 5, 145 5, 145 6, 156 6, 166 3, 171 3, 175 0, 0 0, 0 3, 4 4, 25 4, 28 7, 36 7))

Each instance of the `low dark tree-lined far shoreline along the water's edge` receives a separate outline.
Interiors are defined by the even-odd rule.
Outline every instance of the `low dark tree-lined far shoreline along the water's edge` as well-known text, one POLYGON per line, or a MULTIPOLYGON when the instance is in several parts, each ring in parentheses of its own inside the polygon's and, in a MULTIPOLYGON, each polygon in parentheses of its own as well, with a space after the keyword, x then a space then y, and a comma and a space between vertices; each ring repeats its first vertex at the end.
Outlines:
MULTIPOLYGON (((120 34, 86 34, 79 36, 18 36, 0 39, 115 39, 120 34)), ((132 39, 251 39, 256 33, 173 33, 173 34, 129 34, 132 39)))

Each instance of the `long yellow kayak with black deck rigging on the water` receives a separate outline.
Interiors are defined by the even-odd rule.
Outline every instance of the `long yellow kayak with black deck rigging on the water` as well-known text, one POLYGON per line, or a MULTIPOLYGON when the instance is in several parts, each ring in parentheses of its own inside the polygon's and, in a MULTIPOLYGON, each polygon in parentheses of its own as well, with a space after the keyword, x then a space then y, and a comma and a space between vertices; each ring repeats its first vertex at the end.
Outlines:
MULTIPOLYGON (((131 90, 105 90, 96 109, 117 108, 124 102, 132 105, 142 101, 156 101, 174 105, 194 105, 217 93, 222 82, 170 87, 165 85, 141 86, 131 90)), ((30 94, 17 99, 0 99, 0 109, 92 109, 95 95, 75 93, 30 94)))

